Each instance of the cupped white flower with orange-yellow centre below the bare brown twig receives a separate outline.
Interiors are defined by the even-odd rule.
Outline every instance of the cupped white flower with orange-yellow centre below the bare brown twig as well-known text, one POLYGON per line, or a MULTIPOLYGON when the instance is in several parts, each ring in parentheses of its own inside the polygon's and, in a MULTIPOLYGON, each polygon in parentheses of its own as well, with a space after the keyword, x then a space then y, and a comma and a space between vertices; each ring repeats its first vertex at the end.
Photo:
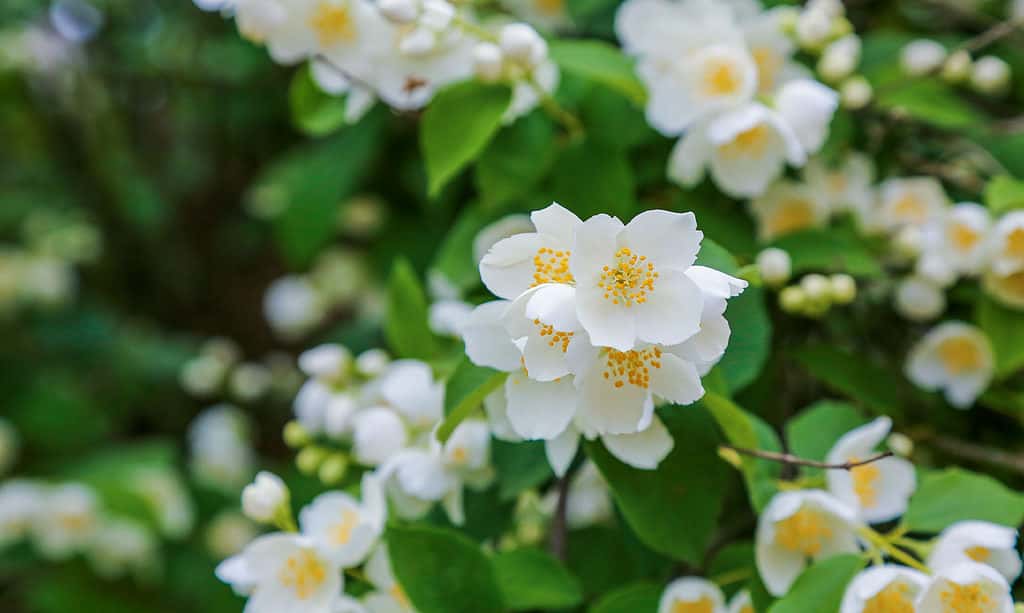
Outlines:
POLYGON ((856 510, 816 489, 778 493, 758 520, 758 572, 768 592, 782 596, 807 567, 859 551, 856 510))

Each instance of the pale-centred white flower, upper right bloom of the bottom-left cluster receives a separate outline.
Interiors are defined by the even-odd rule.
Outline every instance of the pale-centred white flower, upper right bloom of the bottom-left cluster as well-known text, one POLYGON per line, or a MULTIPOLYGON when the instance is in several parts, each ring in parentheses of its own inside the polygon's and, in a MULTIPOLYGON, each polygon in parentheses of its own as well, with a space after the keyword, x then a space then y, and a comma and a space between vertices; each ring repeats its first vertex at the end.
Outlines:
POLYGON ((299 513, 302 533, 342 568, 361 564, 384 530, 387 507, 376 475, 364 475, 360 493, 361 502, 342 491, 323 493, 299 513))

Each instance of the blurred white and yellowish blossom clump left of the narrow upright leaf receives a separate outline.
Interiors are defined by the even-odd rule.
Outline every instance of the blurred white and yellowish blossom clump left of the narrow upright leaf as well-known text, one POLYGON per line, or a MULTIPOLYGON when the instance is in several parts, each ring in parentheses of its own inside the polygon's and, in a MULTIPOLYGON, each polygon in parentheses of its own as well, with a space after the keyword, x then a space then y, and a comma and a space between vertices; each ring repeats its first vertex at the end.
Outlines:
POLYGON ((294 341, 339 310, 355 309, 377 319, 382 303, 362 254, 336 248, 323 252, 308 272, 287 274, 270 283, 263 296, 263 314, 274 334, 294 341))

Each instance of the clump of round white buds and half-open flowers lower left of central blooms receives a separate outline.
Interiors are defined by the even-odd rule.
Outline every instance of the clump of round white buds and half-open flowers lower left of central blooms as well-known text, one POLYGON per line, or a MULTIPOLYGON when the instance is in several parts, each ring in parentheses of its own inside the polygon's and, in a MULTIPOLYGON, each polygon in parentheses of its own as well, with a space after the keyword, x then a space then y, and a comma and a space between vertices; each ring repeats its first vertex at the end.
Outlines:
POLYGON ((444 384, 429 364, 390 361, 376 349, 353 359, 340 345, 323 345, 303 353, 299 366, 309 379, 295 399, 290 442, 304 447, 301 469, 330 482, 354 462, 376 471, 400 517, 422 517, 441 502, 462 523, 463 485, 485 487, 494 477, 490 434, 483 421, 466 420, 437 441, 444 384))

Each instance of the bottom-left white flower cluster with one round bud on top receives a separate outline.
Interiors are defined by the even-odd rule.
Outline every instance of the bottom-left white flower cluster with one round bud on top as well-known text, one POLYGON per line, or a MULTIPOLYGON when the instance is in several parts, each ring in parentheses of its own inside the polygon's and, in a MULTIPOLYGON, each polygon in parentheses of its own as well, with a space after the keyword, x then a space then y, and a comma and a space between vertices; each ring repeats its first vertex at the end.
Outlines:
MULTIPOLYGON (((380 542, 387 502, 377 475, 364 476, 360 495, 316 496, 299 513, 298 526, 256 537, 217 567, 217 577, 249 598, 251 613, 412 611, 380 542), (344 593, 342 571, 359 566, 374 590, 357 601, 344 593)), ((294 524, 288 489, 268 473, 246 488, 243 506, 259 521, 294 524)))

